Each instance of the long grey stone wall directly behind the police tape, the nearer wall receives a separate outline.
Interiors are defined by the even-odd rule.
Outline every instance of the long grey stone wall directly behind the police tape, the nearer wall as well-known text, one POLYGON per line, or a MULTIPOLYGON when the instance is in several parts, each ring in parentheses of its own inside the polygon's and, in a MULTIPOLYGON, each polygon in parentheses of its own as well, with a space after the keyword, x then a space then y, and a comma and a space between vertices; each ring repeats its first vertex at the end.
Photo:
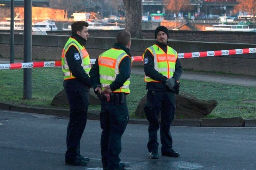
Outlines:
MULTIPOLYGON (((61 35, 33 35, 33 60, 60 60, 63 46, 68 36, 61 35)), ((15 58, 23 58, 23 34, 14 35, 15 58)), ((86 49, 91 59, 97 58, 100 53, 111 48, 115 38, 89 37, 86 49)), ((152 39, 132 39, 132 56, 141 56, 144 50, 154 44, 152 39)), ((0 54, 10 56, 10 34, 0 33, 0 54)), ((214 43, 199 41, 170 40, 169 46, 178 53, 215 51, 228 49, 252 48, 256 44, 214 43)), ((256 75, 256 53, 230 56, 202 57, 180 59, 183 68, 205 71, 218 71, 235 74, 256 75)), ((142 65, 142 62, 133 62, 133 65, 142 65)))

